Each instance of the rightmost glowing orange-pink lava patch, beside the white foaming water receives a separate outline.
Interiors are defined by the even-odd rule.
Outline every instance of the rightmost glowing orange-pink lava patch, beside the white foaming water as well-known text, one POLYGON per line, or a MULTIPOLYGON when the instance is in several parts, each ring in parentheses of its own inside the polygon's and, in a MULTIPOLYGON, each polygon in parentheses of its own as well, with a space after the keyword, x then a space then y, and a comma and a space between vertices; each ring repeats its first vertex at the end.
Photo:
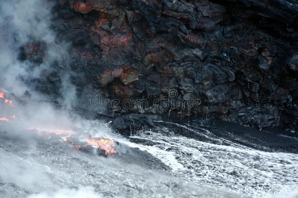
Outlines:
POLYGON ((101 138, 101 139, 85 138, 85 140, 87 141, 87 145, 105 150, 106 155, 116 153, 116 149, 114 147, 115 141, 113 141, 113 140, 109 140, 109 139, 105 139, 105 138, 101 138))

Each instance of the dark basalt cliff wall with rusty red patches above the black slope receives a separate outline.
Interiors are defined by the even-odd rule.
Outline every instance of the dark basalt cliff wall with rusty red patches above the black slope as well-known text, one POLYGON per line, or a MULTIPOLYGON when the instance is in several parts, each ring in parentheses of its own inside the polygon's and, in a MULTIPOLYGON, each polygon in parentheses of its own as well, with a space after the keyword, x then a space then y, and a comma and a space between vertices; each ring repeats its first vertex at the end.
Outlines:
POLYGON ((202 101, 192 114, 297 129, 296 0, 59 0, 53 13, 57 43, 71 44, 81 98, 98 91, 152 101, 174 88, 174 99, 202 101))

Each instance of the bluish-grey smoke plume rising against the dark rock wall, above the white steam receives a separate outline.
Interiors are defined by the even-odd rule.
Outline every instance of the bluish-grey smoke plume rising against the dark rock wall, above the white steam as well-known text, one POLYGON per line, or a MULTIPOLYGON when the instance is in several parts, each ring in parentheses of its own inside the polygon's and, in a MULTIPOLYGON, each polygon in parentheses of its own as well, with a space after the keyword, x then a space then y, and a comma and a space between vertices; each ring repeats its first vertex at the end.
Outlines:
POLYGON ((55 3, 0 1, 0 87, 18 95, 29 90, 38 99, 55 99, 70 107, 76 101, 70 82, 70 45, 58 43, 51 28, 55 3), (53 85, 44 85, 47 81, 53 85), (59 98, 53 98, 56 93, 59 98))

